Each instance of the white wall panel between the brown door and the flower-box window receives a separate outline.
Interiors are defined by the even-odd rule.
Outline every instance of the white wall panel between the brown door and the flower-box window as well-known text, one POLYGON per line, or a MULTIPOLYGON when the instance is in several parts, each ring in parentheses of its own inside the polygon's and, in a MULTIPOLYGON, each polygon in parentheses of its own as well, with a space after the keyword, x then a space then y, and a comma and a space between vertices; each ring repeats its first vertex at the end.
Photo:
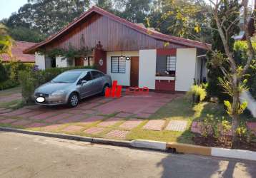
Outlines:
POLYGON ((157 50, 139 51, 139 88, 155 89, 157 50))

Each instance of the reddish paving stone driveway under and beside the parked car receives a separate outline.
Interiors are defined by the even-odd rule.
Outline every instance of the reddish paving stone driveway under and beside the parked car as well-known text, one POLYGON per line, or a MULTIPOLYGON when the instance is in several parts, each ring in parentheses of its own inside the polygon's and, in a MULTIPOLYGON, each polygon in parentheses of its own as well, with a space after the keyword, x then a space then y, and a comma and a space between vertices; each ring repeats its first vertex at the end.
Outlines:
MULTIPOLYGON (((178 95, 149 93, 149 95, 125 95, 121 98, 88 98, 77 108, 28 106, 0 114, 0 125, 21 127, 46 132, 64 132, 80 135, 125 139, 150 115, 178 95)), ((164 130, 166 120, 149 120, 144 130, 164 130)), ((177 129, 177 127, 173 126, 177 129)), ((182 129, 186 123, 182 123, 182 129)), ((172 127, 168 127, 171 130, 172 127)), ((180 130, 177 130, 180 131, 180 130)))

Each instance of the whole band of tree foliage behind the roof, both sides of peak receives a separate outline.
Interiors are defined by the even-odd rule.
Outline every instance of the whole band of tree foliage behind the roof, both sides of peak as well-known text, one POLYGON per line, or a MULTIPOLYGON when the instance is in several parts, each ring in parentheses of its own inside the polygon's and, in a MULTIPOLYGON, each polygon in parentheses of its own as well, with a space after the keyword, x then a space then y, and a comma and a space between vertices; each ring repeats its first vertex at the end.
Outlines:
POLYGON ((2 20, 15 40, 39 42, 96 5, 134 23, 172 36, 210 42, 209 7, 203 0, 29 0, 18 13, 2 20), (150 22, 150 23, 149 23, 150 22), (200 24, 194 28, 193 24, 200 24))

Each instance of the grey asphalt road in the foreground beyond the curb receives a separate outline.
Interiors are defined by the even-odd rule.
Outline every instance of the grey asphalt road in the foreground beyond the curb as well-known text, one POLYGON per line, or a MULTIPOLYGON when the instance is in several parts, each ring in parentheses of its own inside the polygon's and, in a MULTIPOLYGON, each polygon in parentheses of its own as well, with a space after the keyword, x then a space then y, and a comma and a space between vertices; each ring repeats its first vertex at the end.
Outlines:
POLYGON ((256 177, 256 162, 0 132, 0 177, 256 177))

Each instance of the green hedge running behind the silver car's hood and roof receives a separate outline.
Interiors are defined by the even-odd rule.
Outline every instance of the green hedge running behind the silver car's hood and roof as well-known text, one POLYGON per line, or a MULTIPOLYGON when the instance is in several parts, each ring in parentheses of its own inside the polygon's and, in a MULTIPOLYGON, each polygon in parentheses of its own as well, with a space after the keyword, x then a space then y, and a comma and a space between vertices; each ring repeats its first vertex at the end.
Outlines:
POLYGON ((77 68, 93 68, 89 66, 69 67, 69 68, 48 68, 46 70, 21 70, 19 72, 19 83, 21 83, 22 96, 26 103, 34 100, 34 90, 40 85, 49 82, 56 75, 59 75, 67 70, 77 68))

